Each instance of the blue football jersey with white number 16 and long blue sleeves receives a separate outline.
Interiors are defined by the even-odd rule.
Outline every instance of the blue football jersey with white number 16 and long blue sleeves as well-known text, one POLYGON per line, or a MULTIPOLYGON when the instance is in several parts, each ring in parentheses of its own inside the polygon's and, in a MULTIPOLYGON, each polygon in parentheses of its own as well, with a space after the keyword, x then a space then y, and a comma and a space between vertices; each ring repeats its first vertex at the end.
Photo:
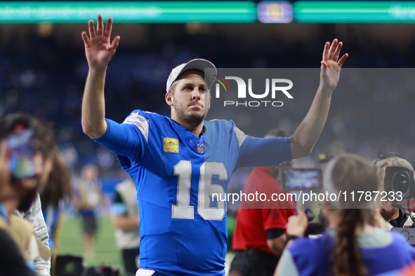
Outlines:
POLYGON ((204 121, 196 137, 169 117, 133 111, 96 142, 136 181, 140 268, 164 275, 225 275, 225 198, 237 167, 291 160, 289 138, 250 137, 227 120, 204 121))

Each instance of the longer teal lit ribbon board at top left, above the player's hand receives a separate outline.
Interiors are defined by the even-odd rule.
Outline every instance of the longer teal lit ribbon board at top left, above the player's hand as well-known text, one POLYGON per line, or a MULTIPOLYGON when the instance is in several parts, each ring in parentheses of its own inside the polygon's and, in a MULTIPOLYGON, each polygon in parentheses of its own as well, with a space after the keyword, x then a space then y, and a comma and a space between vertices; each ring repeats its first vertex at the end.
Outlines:
POLYGON ((0 23, 85 23, 112 17, 117 23, 254 22, 251 1, 0 2, 0 23))

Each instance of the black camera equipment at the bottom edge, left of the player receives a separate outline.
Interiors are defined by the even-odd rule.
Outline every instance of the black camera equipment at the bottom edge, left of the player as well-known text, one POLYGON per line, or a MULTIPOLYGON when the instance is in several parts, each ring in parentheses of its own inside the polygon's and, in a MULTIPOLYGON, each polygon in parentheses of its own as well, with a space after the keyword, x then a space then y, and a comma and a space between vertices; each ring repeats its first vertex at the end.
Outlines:
POLYGON ((119 276, 119 270, 107 265, 85 267, 82 257, 72 255, 56 256, 56 276, 119 276))

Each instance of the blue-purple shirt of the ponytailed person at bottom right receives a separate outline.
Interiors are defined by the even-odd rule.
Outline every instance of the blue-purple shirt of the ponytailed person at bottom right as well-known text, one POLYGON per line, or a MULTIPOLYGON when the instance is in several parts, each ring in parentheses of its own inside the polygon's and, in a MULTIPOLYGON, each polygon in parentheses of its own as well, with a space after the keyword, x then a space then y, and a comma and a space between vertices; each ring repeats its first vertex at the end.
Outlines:
MULTIPOLYGON (((334 235, 324 232, 315 239, 297 239, 279 259, 279 275, 331 275, 334 235)), ((400 233, 374 228, 372 232, 358 234, 357 241, 369 275, 405 268, 415 260, 414 247, 400 233)))

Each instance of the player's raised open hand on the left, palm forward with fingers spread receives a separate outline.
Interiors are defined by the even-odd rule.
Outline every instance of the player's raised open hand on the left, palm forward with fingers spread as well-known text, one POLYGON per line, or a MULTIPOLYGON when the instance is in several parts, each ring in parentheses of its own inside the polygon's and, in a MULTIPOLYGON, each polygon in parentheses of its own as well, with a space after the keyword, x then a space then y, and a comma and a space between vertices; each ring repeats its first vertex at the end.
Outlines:
POLYGON ((115 36, 111 42, 112 18, 108 18, 107 26, 104 29, 103 16, 98 15, 96 33, 93 20, 88 21, 88 27, 89 38, 86 32, 82 32, 88 65, 90 68, 105 69, 119 43, 119 36, 115 36))

